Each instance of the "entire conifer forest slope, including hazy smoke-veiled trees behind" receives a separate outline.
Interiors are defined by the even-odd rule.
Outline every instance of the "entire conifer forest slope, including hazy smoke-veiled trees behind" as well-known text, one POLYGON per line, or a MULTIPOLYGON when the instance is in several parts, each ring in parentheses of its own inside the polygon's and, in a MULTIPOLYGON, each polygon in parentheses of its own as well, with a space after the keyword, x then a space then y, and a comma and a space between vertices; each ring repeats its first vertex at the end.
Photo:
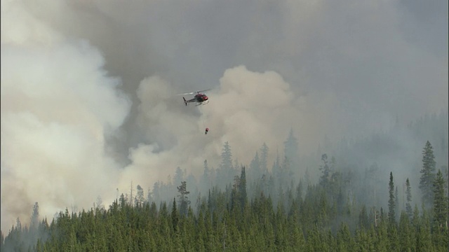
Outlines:
POLYGON ((177 167, 146 194, 131 183, 107 207, 99 197, 52 220, 36 202, 29 225, 1 232, 0 250, 448 251, 447 129, 442 111, 369 137, 325 138, 315 155, 297 155, 290 130, 272 164, 267 144, 243 165, 226 142, 200 178, 177 167))

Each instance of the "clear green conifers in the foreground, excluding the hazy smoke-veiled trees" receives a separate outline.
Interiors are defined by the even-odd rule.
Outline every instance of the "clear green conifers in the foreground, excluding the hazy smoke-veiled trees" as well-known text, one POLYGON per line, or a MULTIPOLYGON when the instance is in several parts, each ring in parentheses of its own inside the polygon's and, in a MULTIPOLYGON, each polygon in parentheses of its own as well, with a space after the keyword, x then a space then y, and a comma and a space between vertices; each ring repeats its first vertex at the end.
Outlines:
POLYGON ((427 142, 420 188, 430 199, 421 210, 415 204, 412 211, 408 195, 408 207, 396 213, 392 172, 385 185, 388 212, 343 200, 342 176, 323 155, 319 183, 304 193, 302 182, 280 188, 276 204, 263 190, 248 199, 245 167, 231 187, 214 186, 202 196, 196 211, 185 181, 173 204, 132 204, 122 194, 109 209, 66 209, 50 224, 37 221, 36 203, 29 227, 18 220, 6 237, 1 234, 1 251, 448 251, 445 179, 441 170, 435 174, 432 159, 427 142))

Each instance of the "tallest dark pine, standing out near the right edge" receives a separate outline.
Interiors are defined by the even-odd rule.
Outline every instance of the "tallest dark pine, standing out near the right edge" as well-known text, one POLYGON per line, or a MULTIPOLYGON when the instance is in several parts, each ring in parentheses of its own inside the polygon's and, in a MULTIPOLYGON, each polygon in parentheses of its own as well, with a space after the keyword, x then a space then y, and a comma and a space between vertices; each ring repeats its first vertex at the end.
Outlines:
POLYGON ((422 151, 422 169, 420 178, 420 189, 422 190, 422 202, 426 207, 431 206, 434 202, 433 183, 435 178, 435 156, 434 150, 429 141, 422 151))

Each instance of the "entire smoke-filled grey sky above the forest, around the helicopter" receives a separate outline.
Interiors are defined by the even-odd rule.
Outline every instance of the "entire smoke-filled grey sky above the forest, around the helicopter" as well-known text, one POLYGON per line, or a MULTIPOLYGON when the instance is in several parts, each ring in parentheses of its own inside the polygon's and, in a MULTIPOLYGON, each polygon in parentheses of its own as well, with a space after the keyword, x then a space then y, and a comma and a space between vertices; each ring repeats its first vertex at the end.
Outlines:
POLYGON ((1 0, 1 230, 447 106, 448 1, 1 0))

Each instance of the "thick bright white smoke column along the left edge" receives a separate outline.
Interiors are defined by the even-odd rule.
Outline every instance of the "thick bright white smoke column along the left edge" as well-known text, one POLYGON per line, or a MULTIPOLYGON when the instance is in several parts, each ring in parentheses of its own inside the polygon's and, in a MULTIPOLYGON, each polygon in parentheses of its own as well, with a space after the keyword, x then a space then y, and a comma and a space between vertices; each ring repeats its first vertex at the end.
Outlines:
POLYGON ((89 207, 116 188, 119 167, 105 155, 105 135, 130 102, 108 76, 100 52, 69 40, 1 1, 1 229, 71 205, 89 207))

